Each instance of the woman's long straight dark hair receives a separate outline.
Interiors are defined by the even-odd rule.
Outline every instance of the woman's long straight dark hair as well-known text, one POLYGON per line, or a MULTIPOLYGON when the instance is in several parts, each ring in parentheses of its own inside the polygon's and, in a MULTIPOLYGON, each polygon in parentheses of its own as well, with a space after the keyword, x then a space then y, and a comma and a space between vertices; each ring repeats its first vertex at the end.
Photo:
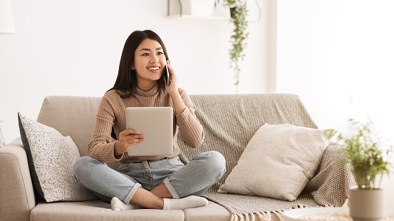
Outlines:
MULTIPOLYGON (((135 87, 137 87, 137 76, 135 70, 131 69, 134 63, 134 52, 137 50, 138 46, 146 38, 157 41, 162 46, 162 50, 165 54, 166 60, 168 59, 167 49, 162 42, 162 39, 151 30, 145 31, 133 31, 133 33, 128 36, 123 47, 122 57, 120 58, 118 77, 116 78, 115 85, 110 90, 118 90, 118 95, 120 97, 130 97, 133 95, 135 87)), ((163 80, 164 75, 157 80, 157 86, 160 91, 165 90, 165 82, 163 80)))

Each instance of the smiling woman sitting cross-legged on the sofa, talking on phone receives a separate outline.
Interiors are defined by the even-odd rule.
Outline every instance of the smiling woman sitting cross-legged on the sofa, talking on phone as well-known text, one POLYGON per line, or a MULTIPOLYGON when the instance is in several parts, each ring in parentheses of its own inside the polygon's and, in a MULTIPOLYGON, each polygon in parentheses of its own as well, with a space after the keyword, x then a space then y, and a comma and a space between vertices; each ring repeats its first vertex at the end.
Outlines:
POLYGON ((128 156, 128 149, 143 142, 145 135, 126 129, 127 107, 172 107, 182 141, 192 148, 202 144, 204 131, 190 97, 177 85, 164 43, 153 31, 134 31, 125 42, 115 85, 100 101, 88 156, 74 164, 78 182, 113 210, 185 210, 207 205, 200 196, 222 177, 222 154, 199 153, 183 165, 176 126, 171 156, 128 156), (169 86, 163 75, 165 65, 169 86), (118 171, 109 168, 107 161, 120 161, 118 171))

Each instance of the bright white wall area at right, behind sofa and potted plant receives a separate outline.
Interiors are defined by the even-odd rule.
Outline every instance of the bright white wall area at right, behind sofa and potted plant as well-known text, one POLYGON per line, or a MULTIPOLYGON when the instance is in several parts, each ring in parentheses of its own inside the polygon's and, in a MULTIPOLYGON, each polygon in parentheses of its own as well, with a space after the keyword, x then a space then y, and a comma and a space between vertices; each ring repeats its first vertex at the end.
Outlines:
MULTIPOLYGON (((322 129, 346 133, 346 119, 368 114, 394 139, 394 1, 279 0, 277 8, 277 92, 299 95, 322 129)), ((383 188, 394 210, 394 174, 383 188)))

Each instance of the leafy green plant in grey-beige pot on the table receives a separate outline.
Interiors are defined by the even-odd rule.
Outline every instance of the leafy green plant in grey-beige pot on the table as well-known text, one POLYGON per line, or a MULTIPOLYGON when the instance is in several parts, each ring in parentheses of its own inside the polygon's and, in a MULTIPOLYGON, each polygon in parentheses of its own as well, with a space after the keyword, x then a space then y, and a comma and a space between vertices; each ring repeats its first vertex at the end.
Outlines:
POLYGON ((350 166, 356 179, 357 185, 350 190, 350 215, 353 220, 379 220, 383 217, 380 184, 383 176, 390 173, 388 158, 393 146, 381 140, 370 119, 366 124, 353 119, 349 122, 356 128, 356 133, 338 135, 338 141, 344 144, 341 149, 346 159, 336 166, 350 166))

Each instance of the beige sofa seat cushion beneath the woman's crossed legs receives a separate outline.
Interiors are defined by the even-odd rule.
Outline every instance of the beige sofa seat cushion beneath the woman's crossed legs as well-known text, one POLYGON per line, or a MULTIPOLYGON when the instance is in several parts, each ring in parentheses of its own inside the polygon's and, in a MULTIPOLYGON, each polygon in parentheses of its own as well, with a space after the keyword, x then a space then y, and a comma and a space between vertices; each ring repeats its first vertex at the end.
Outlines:
MULTIPOLYGON (((151 221, 151 220, 185 220, 185 221, 229 221, 231 214, 229 210, 209 202, 207 206, 197 207, 187 210, 128 210, 113 211, 110 205, 100 200, 86 202, 40 202, 31 211, 31 220, 130 220, 130 221, 151 221), (56 215, 55 215, 56 214, 56 215)), ((259 220, 258 217, 254 217, 259 220)), ((279 218, 271 213, 273 221, 279 218)), ((250 217, 252 220, 252 217, 250 217)))

